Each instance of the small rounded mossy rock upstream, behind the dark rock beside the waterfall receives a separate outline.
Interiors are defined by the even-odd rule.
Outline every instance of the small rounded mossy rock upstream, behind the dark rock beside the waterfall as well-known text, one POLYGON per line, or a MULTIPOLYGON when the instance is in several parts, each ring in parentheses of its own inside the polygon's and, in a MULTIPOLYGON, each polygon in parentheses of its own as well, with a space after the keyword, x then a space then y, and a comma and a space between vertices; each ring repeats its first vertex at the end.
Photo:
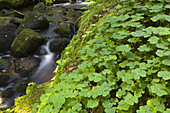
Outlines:
POLYGON ((69 37, 71 30, 68 24, 60 22, 57 27, 54 29, 55 33, 58 33, 61 37, 69 37))

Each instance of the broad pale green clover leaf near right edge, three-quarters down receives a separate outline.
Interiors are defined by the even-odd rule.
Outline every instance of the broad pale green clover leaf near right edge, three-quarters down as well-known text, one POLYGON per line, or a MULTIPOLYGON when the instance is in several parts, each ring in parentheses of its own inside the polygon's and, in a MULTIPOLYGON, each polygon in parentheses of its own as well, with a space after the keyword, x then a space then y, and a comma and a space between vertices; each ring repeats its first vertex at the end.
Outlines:
POLYGON ((153 93, 156 93, 158 96, 167 95, 168 93, 166 92, 165 89, 166 88, 161 84, 155 84, 155 85, 151 86, 151 91, 153 93))

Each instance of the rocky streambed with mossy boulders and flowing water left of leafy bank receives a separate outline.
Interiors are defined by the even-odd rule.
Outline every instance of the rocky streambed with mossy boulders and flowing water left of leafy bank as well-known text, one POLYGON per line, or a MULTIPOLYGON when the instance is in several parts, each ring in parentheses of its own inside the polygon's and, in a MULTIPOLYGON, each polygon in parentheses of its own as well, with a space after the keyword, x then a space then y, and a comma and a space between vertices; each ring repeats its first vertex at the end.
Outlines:
POLYGON ((78 29, 88 3, 39 3, 34 7, 0 12, 0 109, 24 95, 27 84, 54 77, 56 61, 78 29))

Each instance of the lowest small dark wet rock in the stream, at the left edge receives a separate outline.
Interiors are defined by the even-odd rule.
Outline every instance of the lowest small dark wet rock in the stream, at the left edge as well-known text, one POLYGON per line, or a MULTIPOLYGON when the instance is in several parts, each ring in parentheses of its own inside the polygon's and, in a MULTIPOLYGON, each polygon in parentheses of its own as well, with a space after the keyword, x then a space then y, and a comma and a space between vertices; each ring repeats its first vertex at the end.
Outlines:
POLYGON ((15 90, 13 88, 8 88, 5 91, 0 93, 2 98, 10 98, 15 94, 15 90))

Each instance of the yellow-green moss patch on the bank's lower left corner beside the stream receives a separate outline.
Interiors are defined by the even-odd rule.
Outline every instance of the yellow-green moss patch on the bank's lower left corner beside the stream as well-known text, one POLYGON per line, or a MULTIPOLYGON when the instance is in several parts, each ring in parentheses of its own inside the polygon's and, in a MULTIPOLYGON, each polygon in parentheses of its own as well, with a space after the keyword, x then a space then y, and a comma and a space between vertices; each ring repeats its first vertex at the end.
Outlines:
POLYGON ((33 85, 27 88, 26 95, 23 95, 15 100, 15 106, 11 112, 15 113, 30 113, 32 105, 40 102, 40 96, 45 93, 45 89, 50 86, 50 83, 41 85, 33 85))

